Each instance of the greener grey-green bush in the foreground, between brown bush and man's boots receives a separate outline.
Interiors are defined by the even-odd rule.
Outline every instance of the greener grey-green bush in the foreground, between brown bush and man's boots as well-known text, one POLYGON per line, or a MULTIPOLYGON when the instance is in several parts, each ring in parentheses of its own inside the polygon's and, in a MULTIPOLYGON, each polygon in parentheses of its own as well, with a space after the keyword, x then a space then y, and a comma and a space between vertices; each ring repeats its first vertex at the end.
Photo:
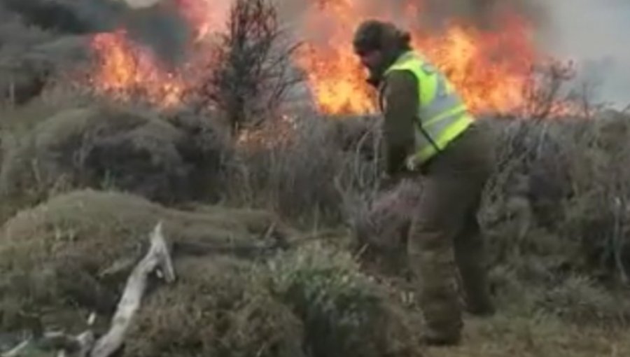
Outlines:
POLYGON ((419 356, 412 320, 348 253, 314 244, 269 266, 274 293, 302 318, 307 355, 419 356))

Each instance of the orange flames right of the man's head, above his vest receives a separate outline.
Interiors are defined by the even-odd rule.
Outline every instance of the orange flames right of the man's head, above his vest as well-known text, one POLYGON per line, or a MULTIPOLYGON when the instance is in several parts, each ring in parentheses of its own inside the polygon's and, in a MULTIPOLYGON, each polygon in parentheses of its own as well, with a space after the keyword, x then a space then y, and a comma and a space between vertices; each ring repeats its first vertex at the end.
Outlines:
POLYGON ((505 113, 526 100, 536 55, 520 18, 505 15, 493 32, 454 24, 440 37, 418 36, 414 47, 447 73, 472 111, 505 113))

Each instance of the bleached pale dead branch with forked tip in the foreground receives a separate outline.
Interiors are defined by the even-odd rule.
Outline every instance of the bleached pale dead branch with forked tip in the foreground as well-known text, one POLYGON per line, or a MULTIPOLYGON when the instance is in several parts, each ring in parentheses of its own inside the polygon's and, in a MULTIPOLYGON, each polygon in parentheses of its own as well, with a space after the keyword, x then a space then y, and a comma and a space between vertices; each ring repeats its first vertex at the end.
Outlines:
POLYGON ((151 234, 151 248, 127 280, 123 297, 120 299, 116 314, 112 318, 111 328, 106 335, 96 342, 90 353, 91 357, 109 357, 123 345, 125 333, 134 314, 140 307, 148 276, 155 269, 161 269, 167 283, 175 281, 171 257, 162 235, 162 222, 155 226, 151 234))

